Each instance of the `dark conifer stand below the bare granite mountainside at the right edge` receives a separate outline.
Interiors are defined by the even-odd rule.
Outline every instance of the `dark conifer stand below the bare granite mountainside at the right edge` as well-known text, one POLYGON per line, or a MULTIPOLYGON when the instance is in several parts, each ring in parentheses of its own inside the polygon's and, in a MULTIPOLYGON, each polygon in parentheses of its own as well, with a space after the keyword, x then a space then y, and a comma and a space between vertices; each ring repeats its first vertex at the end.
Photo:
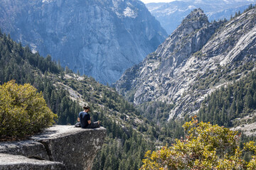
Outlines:
MULTIPOLYGON (((251 63, 253 64, 253 63, 251 63)), ((221 86, 208 95, 199 110, 199 118, 204 122, 232 127, 240 124, 236 118, 252 115, 244 123, 255 122, 256 72, 252 71, 233 84, 221 86)))

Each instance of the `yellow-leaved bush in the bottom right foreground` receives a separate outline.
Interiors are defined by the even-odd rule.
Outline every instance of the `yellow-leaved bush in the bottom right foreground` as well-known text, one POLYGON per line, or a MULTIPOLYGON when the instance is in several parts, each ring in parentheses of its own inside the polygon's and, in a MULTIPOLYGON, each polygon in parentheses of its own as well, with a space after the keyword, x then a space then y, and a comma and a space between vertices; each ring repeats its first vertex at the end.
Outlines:
POLYGON ((242 152, 256 152, 255 142, 239 147, 239 135, 228 128, 210 123, 198 123, 193 118, 183 128, 188 135, 176 140, 172 147, 146 152, 142 169, 255 169, 256 157, 249 162, 242 159, 242 152))

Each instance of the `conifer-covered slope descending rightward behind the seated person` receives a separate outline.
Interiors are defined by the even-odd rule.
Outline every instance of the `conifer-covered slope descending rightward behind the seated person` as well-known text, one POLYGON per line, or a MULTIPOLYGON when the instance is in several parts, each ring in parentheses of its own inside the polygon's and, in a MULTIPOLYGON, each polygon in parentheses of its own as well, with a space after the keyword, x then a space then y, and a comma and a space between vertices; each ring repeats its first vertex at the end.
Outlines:
POLYGON ((50 56, 33 54, 29 47, 22 47, 10 35, 0 33, 1 84, 11 79, 42 91, 49 108, 58 114, 57 124, 73 125, 82 104, 91 106, 92 119, 100 120, 108 134, 94 169, 138 169, 146 150, 154 149, 156 138, 149 132, 154 127, 116 91, 68 68, 64 70, 50 56), (143 130, 139 132, 138 127, 143 130))

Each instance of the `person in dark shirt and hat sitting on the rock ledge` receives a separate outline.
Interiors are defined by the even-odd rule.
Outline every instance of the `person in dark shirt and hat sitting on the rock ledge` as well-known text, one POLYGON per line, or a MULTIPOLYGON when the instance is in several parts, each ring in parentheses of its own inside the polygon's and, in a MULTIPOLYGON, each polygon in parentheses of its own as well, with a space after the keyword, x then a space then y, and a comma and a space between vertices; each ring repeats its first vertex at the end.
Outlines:
POLYGON ((94 122, 92 123, 90 120, 90 107, 89 106, 83 106, 84 111, 80 112, 78 115, 78 122, 75 124, 75 127, 81 127, 81 128, 100 128, 100 122, 94 122))

